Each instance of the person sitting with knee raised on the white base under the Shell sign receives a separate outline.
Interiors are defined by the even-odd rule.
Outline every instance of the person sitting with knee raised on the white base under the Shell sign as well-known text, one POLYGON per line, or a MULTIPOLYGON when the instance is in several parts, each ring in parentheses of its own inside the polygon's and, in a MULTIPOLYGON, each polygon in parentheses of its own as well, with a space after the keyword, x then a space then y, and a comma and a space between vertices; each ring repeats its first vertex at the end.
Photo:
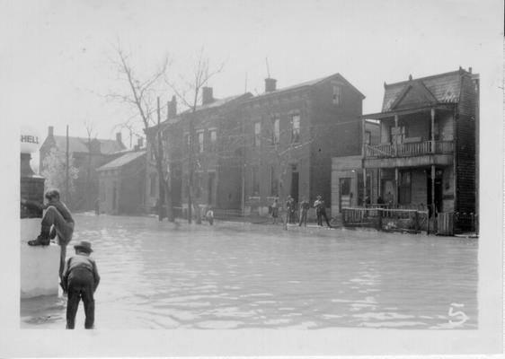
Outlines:
POLYGON ((58 244, 60 247, 59 278, 61 280, 63 267, 65 267, 66 245, 72 240, 75 223, 68 208, 59 200, 57 189, 50 189, 46 192, 45 197, 48 200, 48 203, 45 205, 27 199, 21 200, 23 206, 36 206, 46 211, 40 223, 39 236, 33 241, 28 241, 28 244, 31 246, 49 246, 50 240, 54 239, 58 234, 58 244))

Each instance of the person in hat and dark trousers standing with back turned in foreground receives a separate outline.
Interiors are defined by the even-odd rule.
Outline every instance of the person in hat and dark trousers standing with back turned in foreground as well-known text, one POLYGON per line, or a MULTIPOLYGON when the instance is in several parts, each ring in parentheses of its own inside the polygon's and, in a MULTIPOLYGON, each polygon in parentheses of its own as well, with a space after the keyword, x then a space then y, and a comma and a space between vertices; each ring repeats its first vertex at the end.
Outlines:
POLYGON ((66 302, 66 328, 75 327, 75 314, 81 299, 84 303, 86 320, 84 328, 93 329, 94 324, 94 297, 100 283, 100 276, 93 258, 90 258, 91 243, 80 241, 75 244, 75 256, 68 258, 63 273, 63 291, 67 293, 66 302))

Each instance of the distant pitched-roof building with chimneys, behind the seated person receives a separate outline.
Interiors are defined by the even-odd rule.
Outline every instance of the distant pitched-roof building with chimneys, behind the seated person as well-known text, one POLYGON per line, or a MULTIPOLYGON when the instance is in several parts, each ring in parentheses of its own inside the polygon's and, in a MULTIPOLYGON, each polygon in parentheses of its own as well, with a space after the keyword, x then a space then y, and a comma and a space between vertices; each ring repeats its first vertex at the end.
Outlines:
MULTIPOLYGON (((44 160, 52 148, 66 152, 66 136, 55 136, 54 127, 49 126, 48 136, 40 146, 40 173, 44 170, 44 160)), ((121 141, 121 134, 116 134, 115 140, 93 138, 88 142, 84 137, 68 137, 68 152, 74 157, 74 165, 79 170, 75 179, 75 195, 68 202, 74 210, 91 210, 98 197, 98 173, 95 171, 105 162, 120 155, 126 147, 121 141)), ((63 191, 64 188, 59 188, 63 191)))

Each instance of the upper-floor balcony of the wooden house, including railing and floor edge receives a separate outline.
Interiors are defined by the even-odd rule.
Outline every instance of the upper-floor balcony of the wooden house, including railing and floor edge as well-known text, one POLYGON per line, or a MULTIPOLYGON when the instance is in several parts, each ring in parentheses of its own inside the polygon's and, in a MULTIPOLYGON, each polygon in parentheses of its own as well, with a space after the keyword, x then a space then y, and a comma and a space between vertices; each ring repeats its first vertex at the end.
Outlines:
POLYGON ((365 144, 365 167, 415 167, 453 163, 454 141, 365 144))

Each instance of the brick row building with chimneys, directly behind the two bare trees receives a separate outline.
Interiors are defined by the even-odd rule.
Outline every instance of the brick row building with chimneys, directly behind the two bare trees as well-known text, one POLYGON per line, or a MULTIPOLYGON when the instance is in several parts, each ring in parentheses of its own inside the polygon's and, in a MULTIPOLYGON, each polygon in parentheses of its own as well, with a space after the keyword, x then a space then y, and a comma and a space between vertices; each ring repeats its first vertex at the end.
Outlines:
MULTIPOLYGON (((238 211, 242 205, 242 101, 252 97, 244 93, 215 99, 211 87, 202 88, 201 105, 181 114, 173 98, 168 118, 161 126, 165 162, 170 173, 173 206, 182 212, 188 208, 190 162, 194 169, 193 199, 200 207, 238 211), (190 141, 190 136, 192 136, 190 141), (190 148, 190 143, 192 148, 190 148), (192 158, 190 158, 192 156, 192 158)), ((150 131, 157 131, 152 127, 150 131)), ((159 180, 152 153, 147 144, 146 207, 152 210, 159 197, 159 180)))

